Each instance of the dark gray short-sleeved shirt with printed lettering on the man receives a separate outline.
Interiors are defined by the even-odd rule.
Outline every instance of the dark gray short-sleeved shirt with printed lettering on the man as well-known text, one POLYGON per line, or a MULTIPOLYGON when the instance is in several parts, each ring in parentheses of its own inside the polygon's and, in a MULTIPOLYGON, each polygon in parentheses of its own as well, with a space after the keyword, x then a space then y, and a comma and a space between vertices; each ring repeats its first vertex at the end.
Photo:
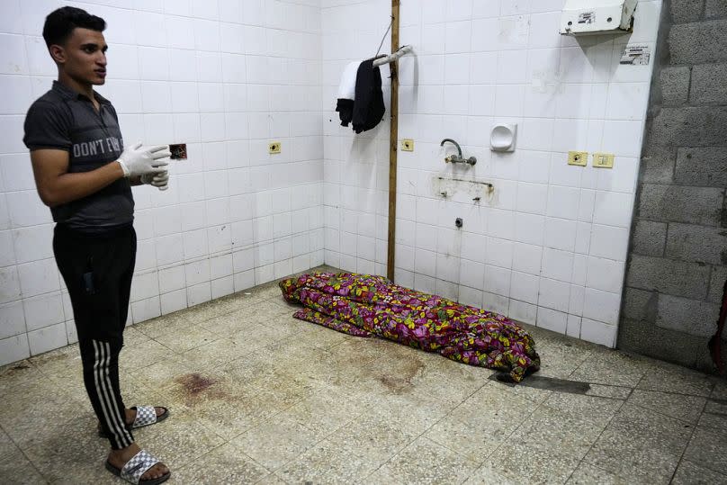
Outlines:
MULTIPOLYGON (((123 150, 119 118, 112 104, 94 93, 99 111, 84 94, 53 82, 53 88, 32 103, 25 116, 30 150, 66 150, 68 173, 89 172, 118 160, 123 150)), ((120 178, 96 193, 52 207, 53 220, 85 232, 117 229, 134 219, 134 199, 128 178, 120 178)))

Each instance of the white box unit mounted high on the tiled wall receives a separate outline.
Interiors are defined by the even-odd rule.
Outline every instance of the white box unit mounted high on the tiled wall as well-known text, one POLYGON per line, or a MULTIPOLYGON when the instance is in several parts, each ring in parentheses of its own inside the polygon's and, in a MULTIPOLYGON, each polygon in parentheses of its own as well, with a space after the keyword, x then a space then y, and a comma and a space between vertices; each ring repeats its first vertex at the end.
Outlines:
POLYGON ((561 34, 593 35, 633 31, 633 11, 639 0, 566 0, 561 34))

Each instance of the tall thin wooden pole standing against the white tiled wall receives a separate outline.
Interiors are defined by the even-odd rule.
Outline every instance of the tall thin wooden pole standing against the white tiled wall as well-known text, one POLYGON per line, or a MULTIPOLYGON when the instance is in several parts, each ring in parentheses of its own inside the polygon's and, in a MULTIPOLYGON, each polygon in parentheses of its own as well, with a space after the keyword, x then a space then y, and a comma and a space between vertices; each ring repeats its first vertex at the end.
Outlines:
MULTIPOLYGON (((391 52, 399 49, 399 0, 391 0, 391 52)), ((396 247, 396 166, 399 140, 399 61, 389 65, 391 72, 391 127, 389 135, 389 247, 386 276, 394 281, 396 247)))

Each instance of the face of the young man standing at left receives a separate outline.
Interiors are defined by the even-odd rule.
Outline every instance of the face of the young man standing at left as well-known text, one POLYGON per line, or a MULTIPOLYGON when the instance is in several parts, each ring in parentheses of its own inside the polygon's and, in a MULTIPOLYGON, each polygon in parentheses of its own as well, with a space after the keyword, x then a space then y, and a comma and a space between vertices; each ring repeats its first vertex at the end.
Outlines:
POLYGON ((50 46, 61 69, 82 85, 106 82, 106 40, 103 33, 76 27, 63 46, 50 46))

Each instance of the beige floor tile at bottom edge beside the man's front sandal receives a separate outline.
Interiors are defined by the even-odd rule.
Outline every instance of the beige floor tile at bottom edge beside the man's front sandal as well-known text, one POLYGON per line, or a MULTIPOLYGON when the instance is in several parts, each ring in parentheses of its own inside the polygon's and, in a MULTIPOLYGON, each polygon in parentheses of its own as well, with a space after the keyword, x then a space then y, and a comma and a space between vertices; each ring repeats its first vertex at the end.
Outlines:
POLYGON ((176 483, 257 483, 269 475, 265 467, 233 445, 220 445, 172 471, 170 481, 176 483))

